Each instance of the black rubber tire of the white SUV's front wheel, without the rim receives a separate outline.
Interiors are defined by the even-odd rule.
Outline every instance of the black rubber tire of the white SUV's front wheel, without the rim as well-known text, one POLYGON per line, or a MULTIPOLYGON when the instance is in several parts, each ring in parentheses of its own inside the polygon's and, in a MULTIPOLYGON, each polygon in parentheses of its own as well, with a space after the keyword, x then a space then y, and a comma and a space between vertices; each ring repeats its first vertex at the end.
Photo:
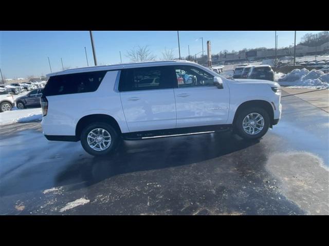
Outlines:
POLYGON ((270 118, 269 115, 267 113, 267 111, 263 108, 258 108, 258 107, 252 107, 252 108, 246 108, 244 110, 242 110, 241 112, 238 113, 236 120, 234 122, 234 128, 235 128, 235 132, 237 133, 237 135, 239 135, 240 137, 244 138, 244 139, 259 139, 262 136, 264 136, 266 134, 266 132, 268 131, 268 128, 270 126, 270 118), (263 118, 264 118, 264 127, 263 129, 254 135, 248 134, 244 129, 243 129, 243 120, 244 118, 251 113, 258 113, 260 114, 263 118))

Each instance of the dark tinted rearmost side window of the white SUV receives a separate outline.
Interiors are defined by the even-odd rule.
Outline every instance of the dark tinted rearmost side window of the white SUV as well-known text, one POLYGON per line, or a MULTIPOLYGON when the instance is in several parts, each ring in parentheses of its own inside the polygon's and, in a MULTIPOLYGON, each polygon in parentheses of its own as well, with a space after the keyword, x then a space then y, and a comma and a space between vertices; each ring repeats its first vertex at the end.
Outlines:
POLYGON ((106 71, 74 73, 49 78, 43 94, 45 96, 74 94, 96 91, 106 71))

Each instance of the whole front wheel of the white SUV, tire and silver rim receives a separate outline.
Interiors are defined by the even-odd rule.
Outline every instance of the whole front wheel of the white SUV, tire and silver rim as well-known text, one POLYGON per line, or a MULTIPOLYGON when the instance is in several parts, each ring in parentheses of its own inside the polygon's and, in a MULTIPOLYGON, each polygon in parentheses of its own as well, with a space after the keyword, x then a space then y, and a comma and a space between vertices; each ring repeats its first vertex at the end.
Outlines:
POLYGON ((244 139, 258 139, 266 134, 270 125, 268 113, 263 108, 247 108, 236 117, 236 133, 244 139))

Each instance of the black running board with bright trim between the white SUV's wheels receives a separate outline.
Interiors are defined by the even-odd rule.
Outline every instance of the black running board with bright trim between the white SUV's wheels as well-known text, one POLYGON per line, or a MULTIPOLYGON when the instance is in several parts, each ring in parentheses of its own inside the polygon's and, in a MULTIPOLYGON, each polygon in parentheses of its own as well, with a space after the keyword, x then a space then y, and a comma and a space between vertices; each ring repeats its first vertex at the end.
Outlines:
POLYGON ((125 140, 139 140, 139 139, 150 139, 150 138, 160 138, 160 137, 176 137, 176 136, 207 134, 207 133, 213 133, 213 132, 218 132, 218 131, 226 131, 226 130, 230 130, 231 128, 232 128, 232 125, 174 128, 174 129, 164 129, 164 130, 154 130, 154 131, 123 133, 122 137, 125 140))

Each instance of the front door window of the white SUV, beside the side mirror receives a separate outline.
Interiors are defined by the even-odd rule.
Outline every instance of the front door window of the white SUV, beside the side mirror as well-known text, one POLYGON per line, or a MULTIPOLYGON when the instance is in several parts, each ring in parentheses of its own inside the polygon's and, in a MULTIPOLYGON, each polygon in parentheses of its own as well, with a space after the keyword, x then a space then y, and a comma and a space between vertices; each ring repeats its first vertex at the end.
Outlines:
POLYGON ((175 66, 178 88, 213 86, 214 76, 192 66, 175 66))

